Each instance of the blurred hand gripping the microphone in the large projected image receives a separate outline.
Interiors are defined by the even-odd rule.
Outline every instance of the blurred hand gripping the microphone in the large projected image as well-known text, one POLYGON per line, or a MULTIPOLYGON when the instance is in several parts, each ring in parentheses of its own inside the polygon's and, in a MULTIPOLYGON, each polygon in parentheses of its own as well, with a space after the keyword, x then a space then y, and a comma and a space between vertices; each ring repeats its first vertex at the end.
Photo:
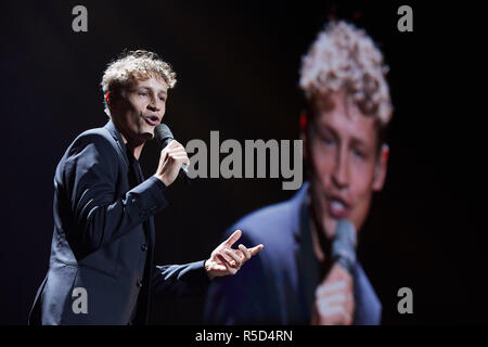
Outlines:
POLYGON ((316 290, 312 325, 350 325, 354 322, 355 297, 352 277, 334 264, 316 290))

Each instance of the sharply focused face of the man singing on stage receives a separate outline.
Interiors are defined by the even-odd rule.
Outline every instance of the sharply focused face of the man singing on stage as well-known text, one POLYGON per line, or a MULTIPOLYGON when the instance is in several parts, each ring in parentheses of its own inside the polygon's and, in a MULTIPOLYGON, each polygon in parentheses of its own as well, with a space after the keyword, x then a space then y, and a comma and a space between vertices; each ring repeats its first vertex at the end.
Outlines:
POLYGON ((111 114, 117 129, 128 142, 140 144, 154 137, 166 111, 168 86, 151 77, 133 80, 111 102, 111 114))

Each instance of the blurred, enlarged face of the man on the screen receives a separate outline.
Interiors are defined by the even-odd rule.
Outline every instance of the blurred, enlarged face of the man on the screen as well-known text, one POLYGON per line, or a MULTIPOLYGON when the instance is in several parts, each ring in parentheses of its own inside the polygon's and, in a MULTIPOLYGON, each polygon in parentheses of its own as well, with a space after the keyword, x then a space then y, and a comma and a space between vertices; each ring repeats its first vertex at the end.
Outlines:
POLYGON ((383 188, 388 149, 377 152, 374 117, 367 117, 344 91, 314 106, 306 137, 311 164, 312 208, 328 237, 337 221, 347 218, 362 227, 373 191, 383 188))

